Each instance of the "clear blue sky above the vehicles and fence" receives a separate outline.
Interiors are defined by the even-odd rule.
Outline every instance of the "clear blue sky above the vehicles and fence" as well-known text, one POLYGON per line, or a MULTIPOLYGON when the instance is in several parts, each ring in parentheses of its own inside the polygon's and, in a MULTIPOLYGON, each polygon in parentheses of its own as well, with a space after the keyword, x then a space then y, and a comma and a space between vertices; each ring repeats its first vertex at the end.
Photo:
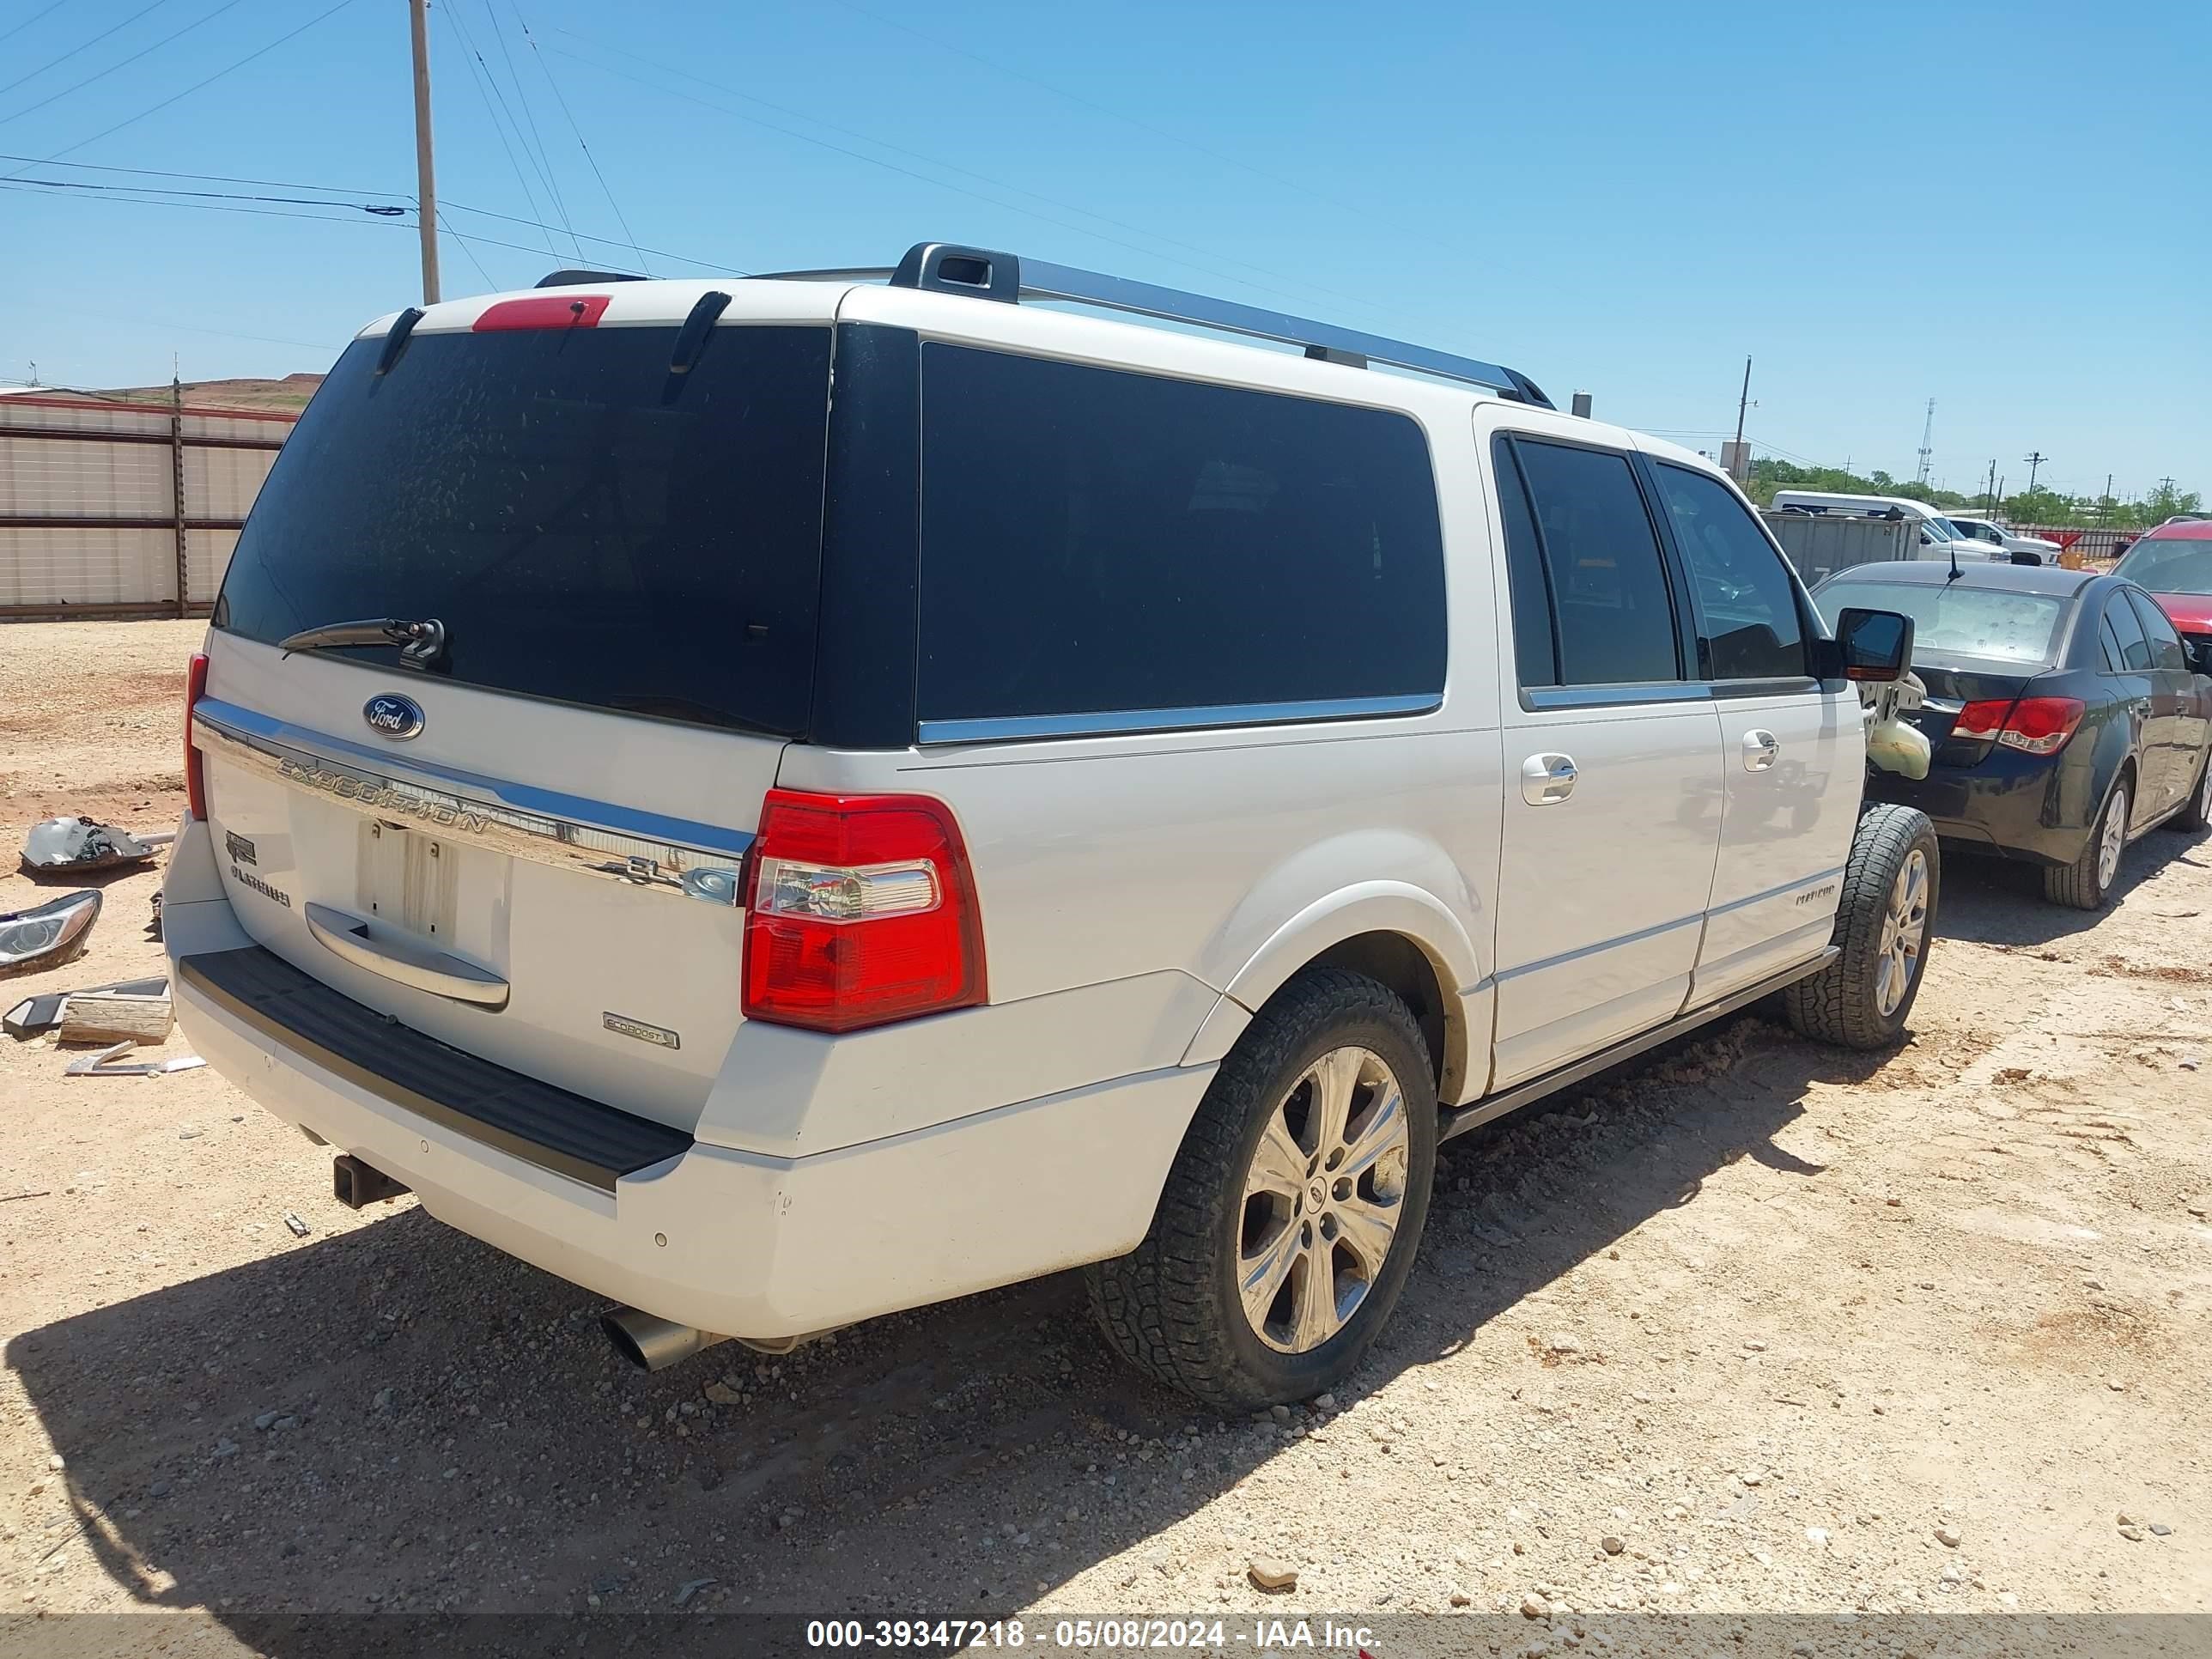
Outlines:
MULTIPOLYGON (((330 2, 0 0, 31 157, 0 175, 407 204, 405 4, 330 2)), ((626 219, 661 274, 971 241, 1504 361, 1694 447, 1752 354, 1772 451, 1909 478, 1933 396, 1953 489, 2039 449, 2064 489, 2212 493, 2201 0, 445 0, 431 55, 447 294, 577 263, 471 210, 630 265, 626 219)), ((113 197, 0 188, 0 380, 316 369, 418 292, 403 221, 113 197)))

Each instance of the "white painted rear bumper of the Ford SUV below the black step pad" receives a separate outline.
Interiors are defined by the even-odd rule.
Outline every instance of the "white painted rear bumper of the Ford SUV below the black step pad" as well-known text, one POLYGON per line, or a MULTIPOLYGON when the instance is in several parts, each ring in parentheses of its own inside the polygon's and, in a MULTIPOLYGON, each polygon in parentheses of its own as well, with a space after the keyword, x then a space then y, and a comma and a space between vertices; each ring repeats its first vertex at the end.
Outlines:
POLYGON ((400 1104, 380 1066, 334 1060, 325 1031, 272 1031, 192 964, 195 949, 237 949, 228 918, 175 909, 179 1022, 265 1110, 405 1181, 467 1234, 723 1336, 803 1336, 1135 1248, 1214 1073, 1119 1077, 812 1157, 661 1130, 681 1146, 628 1170, 615 1164, 641 1141, 617 1148, 602 1181, 551 1166, 513 1121, 484 1135, 467 1110, 400 1104))

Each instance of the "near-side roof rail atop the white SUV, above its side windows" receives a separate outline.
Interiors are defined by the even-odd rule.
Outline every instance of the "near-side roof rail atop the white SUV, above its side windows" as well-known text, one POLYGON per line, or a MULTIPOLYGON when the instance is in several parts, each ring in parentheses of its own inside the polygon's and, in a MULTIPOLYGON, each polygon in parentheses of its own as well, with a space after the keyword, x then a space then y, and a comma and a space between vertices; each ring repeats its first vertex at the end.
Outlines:
POLYGON ((1440 380, 1460 380, 1502 392, 1517 403, 1540 409, 1555 407, 1542 387, 1520 369, 1500 363, 1480 363, 1449 352, 1431 352, 1427 345, 1409 345, 1380 334, 1363 334, 1334 323, 1316 323, 1287 312, 1270 312, 1256 305, 1239 305, 1228 299, 1186 294, 1177 288, 1155 288, 1126 276, 1106 276, 1075 265, 1051 265, 1042 259, 1020 259, 991 248, 962 248, 947 241, 918 241, 891 270, 785 270, 772 272, 781 279, 836 279, 836 281, 880 281, 891 288, 922 288, 933 294, 967 294, 971 299, 1018 305, 1024 299, 1068 301, 1075 305, 1097 305, 1110 312, 1130 312, 1166 323, 1192 323, 1225 334, 1243 334, 1281 345, 1305 347, 1310 358, 1321 363, 1343 363, 1365 369, 1383 363, 1394 369, 1431 374, 1440 380))

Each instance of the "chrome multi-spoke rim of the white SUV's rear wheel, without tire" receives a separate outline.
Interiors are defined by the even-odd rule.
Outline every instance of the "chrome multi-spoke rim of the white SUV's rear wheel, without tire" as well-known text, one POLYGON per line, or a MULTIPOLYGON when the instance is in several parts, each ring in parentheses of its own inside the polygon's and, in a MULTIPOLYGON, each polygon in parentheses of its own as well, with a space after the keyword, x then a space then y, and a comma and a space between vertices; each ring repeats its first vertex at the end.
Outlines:
POLYGON ((1405 1212, 1405 1091, 1371 1048, 1332 1048, 1267 1115, 1245 1170, 1237 1290, 1252 1332, 1312 1354, 1367 1301, 1405 1212))

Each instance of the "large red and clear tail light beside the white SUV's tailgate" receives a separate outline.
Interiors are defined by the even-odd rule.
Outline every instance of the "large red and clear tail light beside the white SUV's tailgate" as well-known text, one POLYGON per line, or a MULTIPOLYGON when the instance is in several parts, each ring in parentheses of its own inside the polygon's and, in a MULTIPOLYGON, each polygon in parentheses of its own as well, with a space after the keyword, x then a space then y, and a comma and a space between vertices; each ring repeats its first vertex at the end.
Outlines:
POLYGON ((984 1000, 975 878, 942 801, 770 790, 745 909, 748 1020, 858 1031, 984 1000))

